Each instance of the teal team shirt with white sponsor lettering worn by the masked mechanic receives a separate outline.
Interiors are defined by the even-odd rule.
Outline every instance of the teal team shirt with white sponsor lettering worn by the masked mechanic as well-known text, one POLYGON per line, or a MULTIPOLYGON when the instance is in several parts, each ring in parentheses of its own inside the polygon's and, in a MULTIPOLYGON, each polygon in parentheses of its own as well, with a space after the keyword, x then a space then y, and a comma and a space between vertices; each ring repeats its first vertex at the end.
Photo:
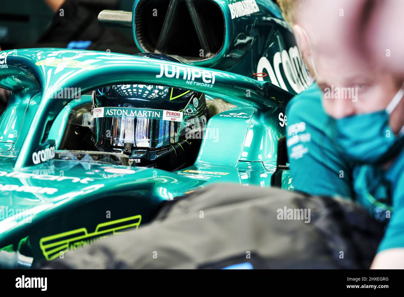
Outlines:
POLYGON ((404 247, 404 150, 387 172, 349 162, 334 142, 335 120, 324 112, 321 99, 322 91, 313 84, 286 107, 294 189, 355 200, 389 224, 379 251, 404 247))

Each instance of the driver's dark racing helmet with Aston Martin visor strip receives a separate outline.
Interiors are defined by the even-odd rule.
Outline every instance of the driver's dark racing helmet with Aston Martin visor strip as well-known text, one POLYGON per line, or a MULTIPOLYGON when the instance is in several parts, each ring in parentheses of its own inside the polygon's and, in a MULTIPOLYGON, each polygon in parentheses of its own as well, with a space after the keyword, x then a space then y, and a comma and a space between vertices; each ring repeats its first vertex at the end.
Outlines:
MULTIPOLYGON (((155 53, 137 56, 187 63, 155 53)), ((95 150, 126 154, 133 166, 175 171, 196 159, 206 100, 204 93, 171 86, 118 84, 93 91, 92 114, 95 150)))

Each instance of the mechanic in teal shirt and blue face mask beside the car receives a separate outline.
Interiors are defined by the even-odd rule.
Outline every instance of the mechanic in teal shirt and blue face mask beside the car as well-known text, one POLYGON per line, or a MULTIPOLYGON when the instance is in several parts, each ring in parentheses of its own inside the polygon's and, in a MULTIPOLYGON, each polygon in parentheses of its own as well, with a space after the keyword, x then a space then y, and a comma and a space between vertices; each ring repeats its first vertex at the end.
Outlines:
POLYGON ((295 189, 352 198, 388 223, 372 268, 404 268, 403 81, 340 51, 335 40, 324 44, 310 24, 316 2, 279 2, 317 81, 286 111, 295 189))

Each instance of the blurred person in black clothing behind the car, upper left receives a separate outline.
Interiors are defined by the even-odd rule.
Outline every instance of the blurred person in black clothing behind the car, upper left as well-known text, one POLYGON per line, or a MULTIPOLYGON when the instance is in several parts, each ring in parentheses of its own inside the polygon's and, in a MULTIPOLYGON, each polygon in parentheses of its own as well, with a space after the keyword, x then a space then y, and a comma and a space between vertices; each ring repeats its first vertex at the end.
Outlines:
MULTIPOLYGON (((44 0, 54 12, 50 25, 37 44, 22 47, 67 47, 94 51, 139 53, 131 28, 102 27, 98 14, 105 9, 119 10, 121 0, 44 0), (126 31, 124 31, 126 30, 126 31), (123 34, 126 32, 127 34, 123 34)), ((125 1, 133 5, 134 0, 125 1)))

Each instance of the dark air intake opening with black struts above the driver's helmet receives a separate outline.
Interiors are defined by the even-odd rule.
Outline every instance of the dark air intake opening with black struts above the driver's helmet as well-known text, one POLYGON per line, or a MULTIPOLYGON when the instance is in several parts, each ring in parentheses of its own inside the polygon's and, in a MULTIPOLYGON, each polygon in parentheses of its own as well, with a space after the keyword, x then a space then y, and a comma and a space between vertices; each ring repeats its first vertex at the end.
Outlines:
POLYGON ((225 16, 215 1, 140 0, 134 11, 134 36, 144 51, 198 61, 225 44, 225 16))

